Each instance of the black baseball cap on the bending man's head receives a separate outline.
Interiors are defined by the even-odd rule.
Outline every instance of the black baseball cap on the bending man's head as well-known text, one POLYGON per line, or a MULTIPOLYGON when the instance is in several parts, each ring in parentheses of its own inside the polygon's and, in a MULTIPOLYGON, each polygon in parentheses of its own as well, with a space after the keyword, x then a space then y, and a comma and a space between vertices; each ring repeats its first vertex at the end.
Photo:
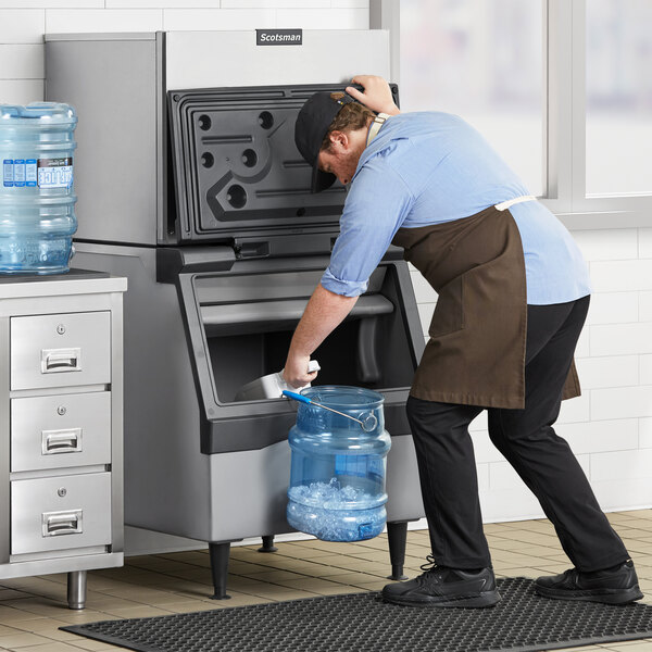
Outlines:
POLYGON ((344 104, 354 101, 347 93, 339 100, 334 100, 330 92, 315 92, 299 111, 294 123, 294 142, 301 155, 312 165, 312 192, 330 188, 337 178, 334 174, 319 170, 319 150, 335 116, 344 104))

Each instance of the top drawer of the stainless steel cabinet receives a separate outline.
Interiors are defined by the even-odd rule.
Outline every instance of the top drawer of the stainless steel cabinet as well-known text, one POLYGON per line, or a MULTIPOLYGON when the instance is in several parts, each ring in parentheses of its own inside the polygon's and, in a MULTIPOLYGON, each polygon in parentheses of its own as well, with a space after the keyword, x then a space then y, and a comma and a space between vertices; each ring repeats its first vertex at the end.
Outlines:
POLYGON ((11 318, 11 389, 111 381, 111 313, 11 318))

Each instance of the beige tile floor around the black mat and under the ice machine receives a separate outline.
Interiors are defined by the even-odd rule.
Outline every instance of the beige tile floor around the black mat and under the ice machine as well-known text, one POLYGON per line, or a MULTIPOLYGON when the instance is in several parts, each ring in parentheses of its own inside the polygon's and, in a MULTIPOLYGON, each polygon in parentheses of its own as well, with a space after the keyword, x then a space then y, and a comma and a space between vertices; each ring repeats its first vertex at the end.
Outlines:
MULTIPOLYGON (((609 518, 635 559, 645 602, 652 604, 652 510, 617 512, 609 518)), ((561 573, 569 566, 548 521, 489 524, 485 528, 498 576, 561 573)), ((279 542, 278 552, 259 546, 231 547, 230 600, 213 601, 208 551, 128 557, 123 568, 88 574, 87 609, 66 606, 66 576, 47 575, 0 580, 0 650, 79 652, 122 650, 60 631, 73 623, 134 618, 375 591, 389 572, 385 535, 361 543, 279 542)), ((408 535, 406 568, 413 577, 429 553, 426 531, 408 535)), ((574 651, 652 652, 652 639, 611 643, 574 651)))

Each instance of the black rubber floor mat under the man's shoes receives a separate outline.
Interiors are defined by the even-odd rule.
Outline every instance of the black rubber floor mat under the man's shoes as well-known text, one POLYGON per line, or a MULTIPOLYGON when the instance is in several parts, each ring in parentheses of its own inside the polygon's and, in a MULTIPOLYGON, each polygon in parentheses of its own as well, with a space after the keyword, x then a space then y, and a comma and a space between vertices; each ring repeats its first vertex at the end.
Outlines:
POLYGON ((652 638, 652 606, 549 600, 523 577, 499 580, 499 590, 490 609, 353 593, 61 629, 140 652, 535 652, 652 638))

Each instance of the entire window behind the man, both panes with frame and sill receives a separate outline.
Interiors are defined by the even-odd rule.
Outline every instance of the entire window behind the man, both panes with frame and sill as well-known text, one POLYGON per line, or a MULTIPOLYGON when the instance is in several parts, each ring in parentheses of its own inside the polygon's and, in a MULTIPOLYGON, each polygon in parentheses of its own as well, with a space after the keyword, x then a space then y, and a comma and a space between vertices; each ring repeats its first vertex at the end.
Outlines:
POLYGON ((369 8, 404 110, 462 115, 572 228, 652 224, 652 0, 369 8))

